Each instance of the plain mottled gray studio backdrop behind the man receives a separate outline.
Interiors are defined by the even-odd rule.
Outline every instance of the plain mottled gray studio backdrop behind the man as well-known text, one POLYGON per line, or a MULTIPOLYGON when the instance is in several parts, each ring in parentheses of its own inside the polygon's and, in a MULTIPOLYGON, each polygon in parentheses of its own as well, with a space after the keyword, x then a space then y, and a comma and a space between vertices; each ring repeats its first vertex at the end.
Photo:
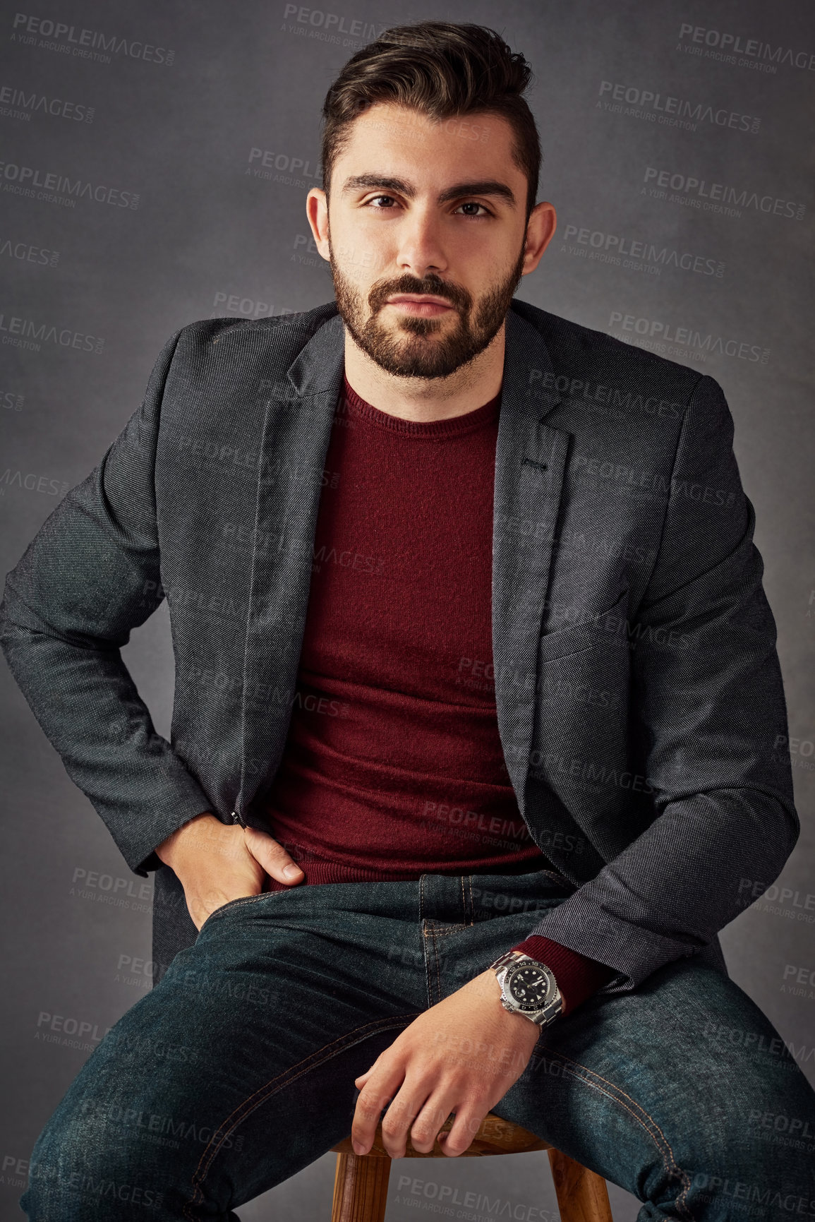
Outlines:
MULTIPOLYGON (((727 393, 778 624, 791 732, 778 749, 791 753, 804 827, 776 884, 743 880, 745 910, 722 945, 815 1080, 808 0, 4 5, 0 574, 138 407, 176 327, 332 298, 304 213, 320 181, 323 98, 358 46, 429 17, 497 27, 536 73, 539 198, 560 222, 519 296, 696 365, 727 393)), ((167 734, 165 605, 125 656, 167 734)), ((45 1119, 149 987, 152 881, 123 864, 5 666, 0 682, 5 1220, 21 1216, 45 1119)), ((241 1216, 327 1218, 334 1162, 326 1155, 241 1216)), ((437 1210, 445 1185, 459 1199, 486 1194, 485 1218, 552 1216, 536 1154, 396 1162, 389 1220, 437 1210), (422 1178, 401 1185, 413 1167, 422 1178)), ((612 1201, 616 1218, 635 1216, 626 1193, 612 1189, 612 1201)))

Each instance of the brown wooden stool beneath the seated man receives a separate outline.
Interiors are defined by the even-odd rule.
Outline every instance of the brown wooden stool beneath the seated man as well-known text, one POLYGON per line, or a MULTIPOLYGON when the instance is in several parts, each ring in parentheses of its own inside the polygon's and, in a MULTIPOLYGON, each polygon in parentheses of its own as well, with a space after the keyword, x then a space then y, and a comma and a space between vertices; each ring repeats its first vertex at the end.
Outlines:
MULTIPOLYGON (((452 1124, 452 1117, 448 1117, 441 1132, 450 1132, 452 1124)), ((382 1145, 381 1124, 376 1127, 376 1136, 368 1154, 354 1154, 349 1136, 331 1149, 337 1154, 331 1222, 384 1222, 391 1157, 382 1145)), ((488 1112, 472 1144, 457 1158, 480 1158, 488 1154, 525 1154, 528 1150, 549 1151, 561 1222, 613 1222, 602 1176, 582 1167, 534 1133, 502 1121, 494 1112, 488 1112)), ((428 1154, 414 1150, 408 1133, 404 1157, 446 1158, 447 1155, 437 1139, 428 1154)))

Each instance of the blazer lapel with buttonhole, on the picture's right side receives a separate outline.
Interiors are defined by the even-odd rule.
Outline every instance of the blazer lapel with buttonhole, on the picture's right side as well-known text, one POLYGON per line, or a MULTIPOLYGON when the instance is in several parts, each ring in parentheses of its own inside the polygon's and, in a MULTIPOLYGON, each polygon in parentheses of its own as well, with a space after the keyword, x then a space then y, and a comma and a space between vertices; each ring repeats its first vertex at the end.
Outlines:
POLYGON ((543 336, 510 310, 495 456, 492 661, 499 736, 525 818, 538 644, 571 434, 544 417, 558 402, 543 336))

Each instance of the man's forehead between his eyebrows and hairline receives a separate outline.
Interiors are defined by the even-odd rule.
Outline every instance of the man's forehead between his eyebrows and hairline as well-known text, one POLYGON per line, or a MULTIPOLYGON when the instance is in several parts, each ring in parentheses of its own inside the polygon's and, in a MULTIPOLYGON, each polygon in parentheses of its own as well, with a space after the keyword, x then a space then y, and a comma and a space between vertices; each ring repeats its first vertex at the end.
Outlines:
MULTIPOLYGON (((502 176, 524 181, 512 160, 513 130, 501 115, 475 112, 434 120, 418 110, 378 101, 348 128, 336 164, 345 172, 395 172, 411 167, 419 180, 439 172, 445 177, 502 176), (364 163, 364 164, 363 164, 364 163)), ((514 185, 514 183, 513 183, 514 185)))

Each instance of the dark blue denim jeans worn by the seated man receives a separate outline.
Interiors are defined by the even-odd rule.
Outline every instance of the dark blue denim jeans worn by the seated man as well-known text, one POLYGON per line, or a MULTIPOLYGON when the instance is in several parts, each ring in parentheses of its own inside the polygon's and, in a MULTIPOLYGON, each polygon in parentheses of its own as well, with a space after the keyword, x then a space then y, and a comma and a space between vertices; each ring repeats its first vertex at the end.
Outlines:
MULTIPOLYGON (((235 1218, 348 1136, 357 1074, 571 890, 547 871, 425 874, 225 904, 83 1066, 23 1210, 235 1218)), ((693 959, 544 1030, 494 1112, 634 1193, 640 1222, 815 1217, 815 1092, 749 997, 693 959)))

